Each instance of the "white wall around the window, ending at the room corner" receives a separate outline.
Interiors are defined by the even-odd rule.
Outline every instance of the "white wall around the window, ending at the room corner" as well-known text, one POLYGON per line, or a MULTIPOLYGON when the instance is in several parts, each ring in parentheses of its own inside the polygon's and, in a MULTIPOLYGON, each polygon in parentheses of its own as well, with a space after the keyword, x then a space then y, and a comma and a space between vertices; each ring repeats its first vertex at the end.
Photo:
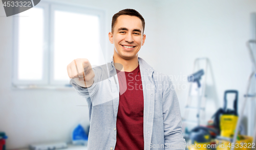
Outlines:
MULTIPOLYGON (((147 42, 141 49, 141 56, 149 61, 156 54, 155 2, 147 1, 54 1, 99 8, 106 11, 107 60, 113 54, 113 45, 108 40, 112 16, 125 8, 133 8, 143 14, 146 20, 147 42), (153 44, 152 44, 153 43, 153 44)), ((13 17, 5 17, 0 5, 0 131, 6 132, 7 149, 27 147, 33 142, 71 141, 71 133, 77 123, 83 127, 89 124, 88 108, 84 98, 74 90, 13 90, 12 47, 13 17)), ((154 62, 150 62, 154 66, 154 62)), ((68 64, 67 64, 68 65, 68 64)), ((155 65, 156 66, 156 65, 155 65)), ((68 74, 67 74, 68 76, 68 74)))

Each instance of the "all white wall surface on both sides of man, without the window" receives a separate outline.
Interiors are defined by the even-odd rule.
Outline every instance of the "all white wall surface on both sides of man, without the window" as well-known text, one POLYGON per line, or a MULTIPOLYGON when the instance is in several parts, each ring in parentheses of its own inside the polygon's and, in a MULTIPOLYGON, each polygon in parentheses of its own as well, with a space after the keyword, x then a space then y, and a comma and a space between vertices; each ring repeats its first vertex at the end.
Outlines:
MULTIPOLYGON (((114 13, 134 8, 145 18, 145 45, 139 56, 156 70, 179 76, 192 73, 197 57, 211 61, 219 101, 226 89, 245 91, 251 71, 245 42, 250 37, 250 12, 256 11, 252 0, 215 1, 54 1, 106 10, 106 51, 110 58, 113 45, 108 41, 114 13)), ((13 90, 12 21, 0 5, 0 131, 8 135, 7 148, 26 147, 32 142, 70 141, 74 126, 89 123, 85 99, 72 91, 13 90)), ((173 81, 174 84, 187 84, 173 81)), ((187 90, 176 89, 181 111, 187 90)), ((222 106, 222 103, 220 104, 222 106)))

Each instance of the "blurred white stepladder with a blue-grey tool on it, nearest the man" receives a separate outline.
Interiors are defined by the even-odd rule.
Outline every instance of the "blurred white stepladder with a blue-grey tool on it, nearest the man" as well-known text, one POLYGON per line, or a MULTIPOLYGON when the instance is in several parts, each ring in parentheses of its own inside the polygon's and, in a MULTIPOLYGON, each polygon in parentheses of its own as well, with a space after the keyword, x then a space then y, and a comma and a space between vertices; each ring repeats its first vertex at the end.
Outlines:
MULTIPOLYGON (((188 76, 189 89, 185 103, 184 115, 182 117, 182 129, 192 129, 196 126, 206 124, 205 111, 207 91, 217 100, 215 80, 208 58, 197 58, 194 61, 193 74, 188 76), (210 85, 210 86, 209 86, 210 85), (207 88, 208 87, 208 88, 207 88), (209 88, 211 87, 211 88, 209 88), (214 93, 214 94, 212 94, 214 93)), ((218 101, 215 102, 218 105, 218 101)))

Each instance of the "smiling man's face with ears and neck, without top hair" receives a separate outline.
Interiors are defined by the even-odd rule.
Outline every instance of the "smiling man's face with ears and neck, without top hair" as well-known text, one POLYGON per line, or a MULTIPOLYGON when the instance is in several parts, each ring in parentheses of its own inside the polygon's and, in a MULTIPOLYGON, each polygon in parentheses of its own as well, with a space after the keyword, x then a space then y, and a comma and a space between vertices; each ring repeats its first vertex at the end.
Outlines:
POLYGON ((130 72, 138 66, 138 52, 145 42, 145 22, 142 16, 115 14, 109 39, 114 44, 114 62, 123 65, 130 72), (120 16, 119 16, 120 15, 120 16))

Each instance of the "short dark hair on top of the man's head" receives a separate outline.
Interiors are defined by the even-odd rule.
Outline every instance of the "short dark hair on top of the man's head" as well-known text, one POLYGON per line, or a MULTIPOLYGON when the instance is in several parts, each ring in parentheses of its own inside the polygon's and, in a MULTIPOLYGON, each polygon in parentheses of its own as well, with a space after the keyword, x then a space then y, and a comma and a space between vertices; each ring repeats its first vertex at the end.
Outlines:
POLYGON ((142 15, 139 12, 137 12, 136 10, 134 10, 134 9, 123 9, 123 10, 120 10, 118 13, 114 14, 114 16, 112 17, 112 24, 111 24, 111 32, 112 33, 113 33, 113 30, 114 30, 114 26, 115 26, 116 20, 121 15, 136 16, 136 17, 140 18, 140 20, 142 22, 143 34, 144 34, 145 20, 142 17, 142 15))

